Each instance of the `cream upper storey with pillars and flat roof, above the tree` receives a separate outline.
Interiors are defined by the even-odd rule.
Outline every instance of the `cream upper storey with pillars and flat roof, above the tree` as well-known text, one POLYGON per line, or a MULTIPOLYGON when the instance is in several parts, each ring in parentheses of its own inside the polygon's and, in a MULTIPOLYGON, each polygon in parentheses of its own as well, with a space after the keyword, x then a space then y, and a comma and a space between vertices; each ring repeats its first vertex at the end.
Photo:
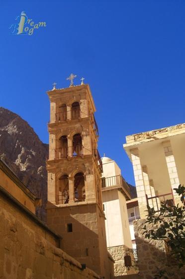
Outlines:
POLYGON ((179 203, 174 188, 185 183, 185 124, 126 137, 123 144, 132 161, 141 218, 147 204, 179 203))

